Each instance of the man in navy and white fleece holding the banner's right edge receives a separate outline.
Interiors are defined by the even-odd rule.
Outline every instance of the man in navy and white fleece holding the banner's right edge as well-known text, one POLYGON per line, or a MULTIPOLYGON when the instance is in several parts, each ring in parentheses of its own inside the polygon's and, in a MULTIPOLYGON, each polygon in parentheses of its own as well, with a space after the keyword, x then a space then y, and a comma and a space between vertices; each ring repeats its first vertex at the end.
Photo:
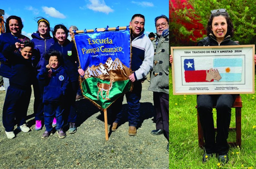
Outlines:
MULTIPOLYGON (((129 79, 133 82, 133 91, 125 93, 128 110, 129 132, 131 136, 137 134, 139 122, 139 109, 142 91, 142 78, 145 77, 153 67, 154 47, 151 40, 144 35, 145 17, 142 14, 135 14, 130 21, 132 41, 131 69, 133 73, 129 79)), ((123 96, 119 97, 112 104, 113 125, 112 131, 116 131, 117 125, 122 117, 123 96)))

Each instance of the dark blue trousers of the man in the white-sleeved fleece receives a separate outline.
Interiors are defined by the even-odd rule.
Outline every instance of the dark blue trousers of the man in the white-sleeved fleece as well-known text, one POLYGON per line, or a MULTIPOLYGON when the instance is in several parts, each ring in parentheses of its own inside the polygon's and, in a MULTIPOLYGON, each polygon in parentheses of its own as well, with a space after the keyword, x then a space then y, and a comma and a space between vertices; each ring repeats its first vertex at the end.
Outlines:
MULTIPOLYGON (((141 91, 142 91, 142 84, 141 81, 135 81, 133 83, 133 91, 125 93, 127 104, 129 106, 128 110, 128 122, 129 126, 137 127, 140 119, 140 99, 141 99, 141 91)), ((123 96, 119 97, 112 105, 112 113, 113 117, 115 118, 113 121, 119 123, 122 118, 122 103, 123 103, 123 96)))

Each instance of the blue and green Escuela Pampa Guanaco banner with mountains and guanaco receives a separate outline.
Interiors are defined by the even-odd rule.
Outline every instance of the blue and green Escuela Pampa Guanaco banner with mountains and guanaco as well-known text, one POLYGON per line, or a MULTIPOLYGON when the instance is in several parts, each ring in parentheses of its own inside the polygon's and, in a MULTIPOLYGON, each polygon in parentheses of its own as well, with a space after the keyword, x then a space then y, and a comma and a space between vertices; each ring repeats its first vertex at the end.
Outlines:
POLYGON ((126 30, 75 34, 76 48, 85 75, 83 95, 106 109, 131 90, 131 40, 126 30))

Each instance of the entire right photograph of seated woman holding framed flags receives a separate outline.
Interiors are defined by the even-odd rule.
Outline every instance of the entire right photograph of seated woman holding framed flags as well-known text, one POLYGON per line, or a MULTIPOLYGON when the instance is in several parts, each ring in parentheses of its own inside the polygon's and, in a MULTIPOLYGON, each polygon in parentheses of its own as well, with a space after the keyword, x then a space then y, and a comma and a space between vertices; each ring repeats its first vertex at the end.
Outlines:
POLYGON ((255 7, 169 0, 169 168, 256 167, 255 7))

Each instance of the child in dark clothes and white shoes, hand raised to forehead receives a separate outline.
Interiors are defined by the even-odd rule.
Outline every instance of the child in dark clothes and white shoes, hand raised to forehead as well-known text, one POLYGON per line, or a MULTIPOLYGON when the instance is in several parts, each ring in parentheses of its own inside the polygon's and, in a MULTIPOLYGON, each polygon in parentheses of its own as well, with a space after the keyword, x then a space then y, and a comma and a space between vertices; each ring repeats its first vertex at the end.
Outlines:
POLYGON ((27 109, 31 96, 31 85, 34 76, 31 62, 33 42, 20 44, 16 42, 7 46, 2 54, 12 65, 12 76, 10 86, 7 89, 3 107, 3 125, 8 139, 13 139, 15 121, 17 129, 28 132, 26 126, 27 109), (19 52, 18 49, 21 49, 19 52))

